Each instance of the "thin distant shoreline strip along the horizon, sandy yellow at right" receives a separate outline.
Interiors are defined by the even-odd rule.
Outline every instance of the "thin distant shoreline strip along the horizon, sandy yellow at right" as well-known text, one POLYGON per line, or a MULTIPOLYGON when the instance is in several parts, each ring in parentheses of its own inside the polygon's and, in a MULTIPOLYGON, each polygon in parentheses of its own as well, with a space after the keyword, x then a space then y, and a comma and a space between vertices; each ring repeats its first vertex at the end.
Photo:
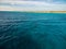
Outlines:
POLYGON ((0 12, 26 12, 26 13, 66 13, 66 11, 0 11, 0 12))

